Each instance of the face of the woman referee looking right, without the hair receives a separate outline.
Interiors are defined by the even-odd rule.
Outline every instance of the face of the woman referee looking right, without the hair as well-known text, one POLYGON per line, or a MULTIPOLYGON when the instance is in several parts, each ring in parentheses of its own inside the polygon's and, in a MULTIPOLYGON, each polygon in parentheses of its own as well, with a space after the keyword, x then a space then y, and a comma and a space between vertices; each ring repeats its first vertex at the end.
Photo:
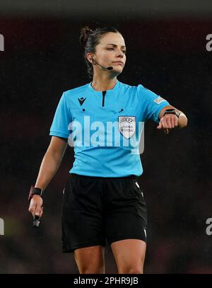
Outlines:
MULTIPOLYGON (((122 35, 112 32, 103 35, 100 43, 95 47, 95 60, 103 67, 112 66, 113 74, 122 73, 126 62, 126 46, 122 35)), ((102 70, 99 65, 95 67, 102 70)))

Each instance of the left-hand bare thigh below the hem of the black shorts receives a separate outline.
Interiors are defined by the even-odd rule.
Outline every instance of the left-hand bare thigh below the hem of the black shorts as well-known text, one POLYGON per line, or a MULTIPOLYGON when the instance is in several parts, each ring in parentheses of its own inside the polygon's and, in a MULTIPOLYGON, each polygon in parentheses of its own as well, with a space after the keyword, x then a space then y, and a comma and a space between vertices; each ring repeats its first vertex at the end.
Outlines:
POLYGON ((105 247, 78 248, 73 255, 80 274, 105 274, 105 247))

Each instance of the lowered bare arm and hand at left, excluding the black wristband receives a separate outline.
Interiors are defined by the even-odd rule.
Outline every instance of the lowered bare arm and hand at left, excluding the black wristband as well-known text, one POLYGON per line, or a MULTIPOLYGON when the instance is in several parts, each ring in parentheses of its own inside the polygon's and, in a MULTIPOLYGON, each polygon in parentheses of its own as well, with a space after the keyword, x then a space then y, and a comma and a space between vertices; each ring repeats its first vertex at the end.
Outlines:
MULTIPOLYGON (((54 177, 68 145, 66 140, 67 139, 52 136, 49 147, 40 165, 40 171, 35 183, 36 188, 42 188, 42 190, 45 190, 54 177)), ((39 195, 33 195, 33 198, 30 201, 29 212, 32 213, 33 216, 37 215, 42 217, 42 197, 39 195)))

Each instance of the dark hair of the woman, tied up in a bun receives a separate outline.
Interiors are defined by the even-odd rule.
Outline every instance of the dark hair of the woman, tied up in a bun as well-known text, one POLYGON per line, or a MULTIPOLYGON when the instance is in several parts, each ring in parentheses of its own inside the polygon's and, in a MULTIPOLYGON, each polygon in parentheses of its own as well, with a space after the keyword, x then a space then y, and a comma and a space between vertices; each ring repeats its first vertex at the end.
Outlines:
POLYGON ((88 61, 86 58, 86 54, 88 52, 95 53, 95 47, 100 43, 100 39, 102 35, 106 33, 113 32, 119 33, 116 28, 97 28, 95 30, 91 30, 88 26, 81 28, 81 35, 80 35, 80 43, 85 49, 84 57, 87 64, 88 69, 88 76, 92 79, 93 78, 93 65, 88 61))

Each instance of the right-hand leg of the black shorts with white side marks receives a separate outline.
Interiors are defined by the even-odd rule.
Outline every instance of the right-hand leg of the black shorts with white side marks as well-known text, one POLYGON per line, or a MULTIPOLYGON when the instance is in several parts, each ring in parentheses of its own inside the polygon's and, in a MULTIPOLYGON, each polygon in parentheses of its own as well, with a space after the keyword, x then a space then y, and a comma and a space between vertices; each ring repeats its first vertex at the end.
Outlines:
POLYGON ((146 242, 146 202, 136 179, 107 183, 105 231, 107 241, 138 239, 146 242))

